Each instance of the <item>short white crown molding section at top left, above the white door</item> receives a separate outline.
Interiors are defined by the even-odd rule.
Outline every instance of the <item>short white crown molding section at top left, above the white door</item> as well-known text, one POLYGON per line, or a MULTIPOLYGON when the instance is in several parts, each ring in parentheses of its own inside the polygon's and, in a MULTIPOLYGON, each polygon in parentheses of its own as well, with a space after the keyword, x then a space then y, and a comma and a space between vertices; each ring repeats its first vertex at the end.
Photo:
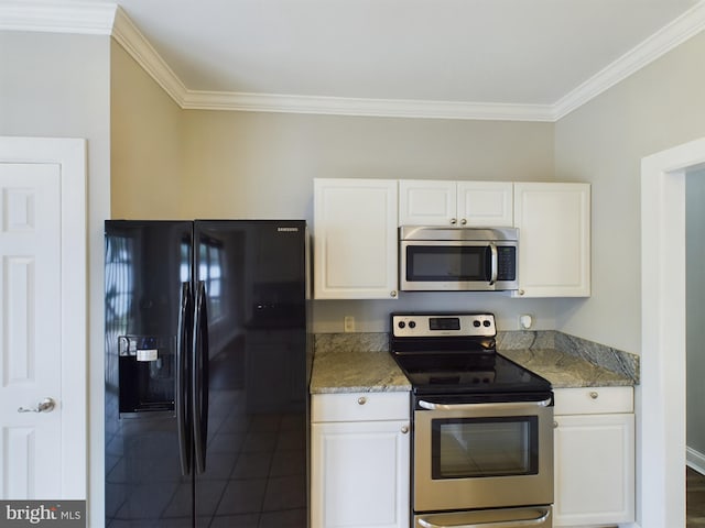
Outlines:
POLYGON ((80 1, 18 1, 0 3, 0 30, 109 35, 117 6, 80 1))

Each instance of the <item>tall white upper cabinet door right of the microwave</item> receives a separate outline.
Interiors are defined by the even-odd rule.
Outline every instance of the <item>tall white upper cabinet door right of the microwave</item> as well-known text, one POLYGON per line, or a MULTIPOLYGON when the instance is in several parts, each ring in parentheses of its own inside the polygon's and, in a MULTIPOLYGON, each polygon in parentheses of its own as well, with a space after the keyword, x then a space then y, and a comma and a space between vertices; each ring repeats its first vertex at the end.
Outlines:
POLYGON ((516 183, 519 297, 590 295, 589 184, 516 183))

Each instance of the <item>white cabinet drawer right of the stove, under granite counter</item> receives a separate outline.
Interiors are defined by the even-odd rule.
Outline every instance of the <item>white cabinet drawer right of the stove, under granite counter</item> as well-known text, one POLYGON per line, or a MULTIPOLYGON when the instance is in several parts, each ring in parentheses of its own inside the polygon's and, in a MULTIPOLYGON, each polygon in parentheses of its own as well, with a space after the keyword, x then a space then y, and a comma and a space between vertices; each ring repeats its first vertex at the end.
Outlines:
POLYGON ((633 413, 632 387, 556 388, 554 415, 633 413))

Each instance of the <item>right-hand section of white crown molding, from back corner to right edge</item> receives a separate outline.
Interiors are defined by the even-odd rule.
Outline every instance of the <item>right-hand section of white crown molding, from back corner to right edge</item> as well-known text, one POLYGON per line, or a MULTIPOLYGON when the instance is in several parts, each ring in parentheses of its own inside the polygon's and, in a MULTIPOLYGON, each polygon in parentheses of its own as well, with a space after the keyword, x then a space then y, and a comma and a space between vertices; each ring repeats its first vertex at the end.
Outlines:
POLYGON ((705 0, 595 74, 555 105, 557 121, 705 29, 705 0))

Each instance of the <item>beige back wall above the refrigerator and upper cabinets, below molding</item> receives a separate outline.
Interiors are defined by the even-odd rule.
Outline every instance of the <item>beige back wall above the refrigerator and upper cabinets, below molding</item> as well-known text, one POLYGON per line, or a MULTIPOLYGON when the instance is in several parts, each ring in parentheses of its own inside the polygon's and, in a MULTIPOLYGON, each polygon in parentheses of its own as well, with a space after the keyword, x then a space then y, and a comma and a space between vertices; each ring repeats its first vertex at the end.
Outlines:
POLYGON ((312 220, 313 178, 553 178, 553 124, 185 112, 185 217, 312 220))

